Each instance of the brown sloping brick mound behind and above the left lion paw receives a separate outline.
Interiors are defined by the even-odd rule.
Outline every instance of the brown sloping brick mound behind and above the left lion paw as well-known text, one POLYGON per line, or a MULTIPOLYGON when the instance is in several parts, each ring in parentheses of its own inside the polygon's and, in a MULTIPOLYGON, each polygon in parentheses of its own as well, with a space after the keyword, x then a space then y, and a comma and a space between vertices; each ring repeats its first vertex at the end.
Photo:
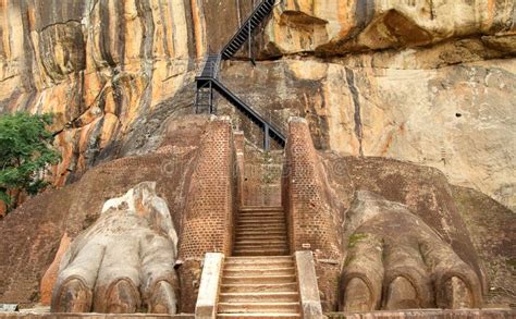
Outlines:
MULTIPOLYGON (((1 303, 22 306, 38 303, 39 283, 52 265, 63 235, 70 241, 77 238, 99 219, 106 200, 125 194, 127 185, 155 181, 157 194, 167 201, 175 229, 181 230, 194 170, 192 163, 206 125, 205 116, 171 122, 158 151, 100 164, 76 183, 30 198, 3 218, 0 221, 1 303)), ((77 243, 89 241, 83 238, 77 243)), ((73 249, 77 248, 76 244, 73 249)), ((51 280, 49 285, 51 290, 51 280)))

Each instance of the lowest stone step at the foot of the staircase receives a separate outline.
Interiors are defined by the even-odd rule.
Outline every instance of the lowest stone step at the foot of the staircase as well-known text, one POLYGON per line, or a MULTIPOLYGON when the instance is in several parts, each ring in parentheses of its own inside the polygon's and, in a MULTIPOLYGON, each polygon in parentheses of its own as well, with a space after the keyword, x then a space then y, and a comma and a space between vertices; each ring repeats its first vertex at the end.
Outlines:
POLYGON ((221 314, 299 312, 299 303, 219 303, 221 314))

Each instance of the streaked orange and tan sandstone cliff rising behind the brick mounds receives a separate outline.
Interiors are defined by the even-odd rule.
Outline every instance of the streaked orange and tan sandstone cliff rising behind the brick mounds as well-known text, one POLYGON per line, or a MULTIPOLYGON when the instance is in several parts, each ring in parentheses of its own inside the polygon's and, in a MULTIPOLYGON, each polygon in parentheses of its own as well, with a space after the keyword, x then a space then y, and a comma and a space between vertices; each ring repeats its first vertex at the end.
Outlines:
MULTIPOLYGON (((192 112, 204 54, 226 41, 250 7, 243 0, 0 0, 0 113, 57 114, 60 186, 102 161, 156 150, 167 123, 192 112)), ((243 50, 223 65, 222 78, 274 116, 306 118, 321 150, 441 170, 456 189, 474 189, 454 196, 478 199, 475 218, 493 209, 503 224, 516 208, 515 16, 511 0, 284 0, 255 36, 257 66, 243 61, 243 50)), ((239 123, 233 109, 221 112, 239 123)), ((120 193, 133 185, 119 186, 120 193)), ((74 187, 64 192, 73 196, 74 187)), ((70 200, 49 204, 59 213, 39 230, 51 240, 35 237, 33 250, 57 249, 52 230, 62 228, 70 200)), ((29 210, 4 225, 22 224, 29 210)), ((69 223, 73 232, 83 226, 69 223)), ((483 221, 468 226, 487 228, 483 221)), ((23 254, 36 256, 27 270, 35 277, 52 259, 23 254)), ((37 300, 29 290, 23 298, 37 300)))

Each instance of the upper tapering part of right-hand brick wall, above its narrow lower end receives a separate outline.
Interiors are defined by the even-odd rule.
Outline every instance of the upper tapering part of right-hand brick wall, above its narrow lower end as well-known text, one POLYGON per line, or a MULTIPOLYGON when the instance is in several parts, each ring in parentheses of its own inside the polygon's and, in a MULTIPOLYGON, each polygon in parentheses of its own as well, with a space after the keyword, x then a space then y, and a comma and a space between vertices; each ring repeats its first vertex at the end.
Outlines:
POLYGON ((341 249, 322 160, 305 121, 291 120, 285 147, 284 199, 293 251, 311 249, 321 259, 340 259, 341 249))

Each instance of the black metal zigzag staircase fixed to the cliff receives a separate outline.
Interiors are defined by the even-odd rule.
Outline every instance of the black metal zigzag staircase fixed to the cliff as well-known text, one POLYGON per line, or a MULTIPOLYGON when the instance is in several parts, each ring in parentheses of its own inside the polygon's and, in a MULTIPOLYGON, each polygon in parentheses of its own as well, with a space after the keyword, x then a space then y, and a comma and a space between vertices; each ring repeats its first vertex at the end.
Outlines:
POLYGON ((251 33, 258 25, 271 13, 275 0, 263 0, 259 2, 239 27, 236 34, 225 45, 220 53, 209 54, 202 66, 202 71, 195 78, 197 91, 195 97, 195 112, 210 114, 217 112, 213 100, 213 90, 218 91, 236 109, 243 112, 248 119, 257 124, 263 132, 263 148, 269 150, 271 147, 271 138, 277 140, 279 145, 285 145, 285 127, 283 121, 273 120, 270 111, 263 111, 259 108, 251 108, 226 88, 217 79, 220 61, 231 59, 245 44, 250 39, 251 33))

